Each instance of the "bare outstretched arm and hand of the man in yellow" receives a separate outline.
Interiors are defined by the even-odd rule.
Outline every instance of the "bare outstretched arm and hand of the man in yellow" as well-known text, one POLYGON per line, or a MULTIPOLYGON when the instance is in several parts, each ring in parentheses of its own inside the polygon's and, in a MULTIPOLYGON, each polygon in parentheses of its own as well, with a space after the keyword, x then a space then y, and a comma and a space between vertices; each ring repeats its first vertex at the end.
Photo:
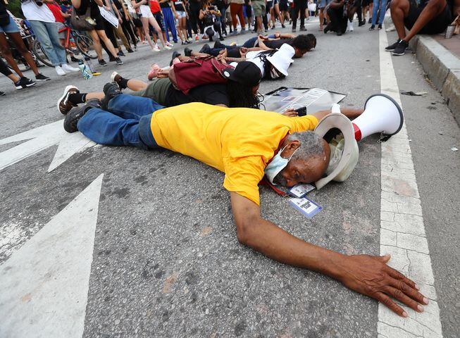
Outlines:
POLYGON ((390 256, 345 256, 315 246, 292 236, 277 225, 264 220, 254 202, 236 192, 230 192, 232 211, 241 244, 263 253, 275 261, 307 268, 328 275, 360 294, 381 301, 403 317, 407 313, 390 298, 397 299, 415 311, 428 304, 416 284, 386 263, 390 256))

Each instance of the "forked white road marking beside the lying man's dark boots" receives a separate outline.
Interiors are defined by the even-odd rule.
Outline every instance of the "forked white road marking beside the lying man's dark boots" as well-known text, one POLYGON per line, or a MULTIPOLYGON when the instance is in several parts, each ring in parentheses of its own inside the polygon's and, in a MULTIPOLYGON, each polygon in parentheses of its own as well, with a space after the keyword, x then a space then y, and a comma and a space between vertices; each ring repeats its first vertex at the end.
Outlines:
POLYGON ((95 145, 80 132, 73 134, 66 132, 63 128, 63 120, 0 139, 0 145, 25 140, 28 141, 0 153, 0 170, 58 144, 58 150, 48 168, 48 173, 50 173, 73 154, 95 145))

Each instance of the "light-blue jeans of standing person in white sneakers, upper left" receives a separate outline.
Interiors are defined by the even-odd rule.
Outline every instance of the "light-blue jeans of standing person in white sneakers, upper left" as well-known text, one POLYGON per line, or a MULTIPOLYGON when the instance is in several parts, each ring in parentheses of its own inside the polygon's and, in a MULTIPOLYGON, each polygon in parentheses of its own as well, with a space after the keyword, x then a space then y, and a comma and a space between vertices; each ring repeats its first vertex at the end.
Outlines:
POLYGON ((59 42, 57 23, 45 23, 38 20, 29 20, 29 23, 49 61, 54 66, 67 63, 66 50, 59 42))

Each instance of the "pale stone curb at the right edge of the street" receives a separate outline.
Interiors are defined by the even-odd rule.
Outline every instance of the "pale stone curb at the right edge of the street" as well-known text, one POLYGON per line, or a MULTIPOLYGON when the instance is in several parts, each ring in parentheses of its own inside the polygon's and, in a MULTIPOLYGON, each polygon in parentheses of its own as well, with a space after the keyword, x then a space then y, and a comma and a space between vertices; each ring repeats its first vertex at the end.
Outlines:
POLYGON ((456 123, 460 125, 459 58, 427 35, 416 35, 409 44, 411 49, 416 51, 417 59, 431 82, 444 96, 456 123))

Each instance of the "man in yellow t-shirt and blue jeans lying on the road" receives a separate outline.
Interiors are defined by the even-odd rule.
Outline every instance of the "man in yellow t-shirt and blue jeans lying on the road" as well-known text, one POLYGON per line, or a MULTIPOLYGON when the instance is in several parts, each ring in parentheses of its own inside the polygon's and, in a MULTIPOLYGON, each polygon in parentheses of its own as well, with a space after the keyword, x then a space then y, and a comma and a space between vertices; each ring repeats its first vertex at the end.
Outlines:
POLYGON ((386 265, 390 256, 342 255, 261 218, 258 184, 264 175, 290 187, 315 182, 325 173, 329 147, 311 130, 328 111, 290 118, 201 103, 164 108, 151 99, 121 94, 113 84, 106 84, 104 93, 102 101, 70 111, 66 131, 80 130, 99 144, 166 148, 211 165, 225 173, 240 243, 276 261, 334 277, 403 317, 407 313, 390 297, 423 311, 420 304, 428 299, 412 280, 386 265))

